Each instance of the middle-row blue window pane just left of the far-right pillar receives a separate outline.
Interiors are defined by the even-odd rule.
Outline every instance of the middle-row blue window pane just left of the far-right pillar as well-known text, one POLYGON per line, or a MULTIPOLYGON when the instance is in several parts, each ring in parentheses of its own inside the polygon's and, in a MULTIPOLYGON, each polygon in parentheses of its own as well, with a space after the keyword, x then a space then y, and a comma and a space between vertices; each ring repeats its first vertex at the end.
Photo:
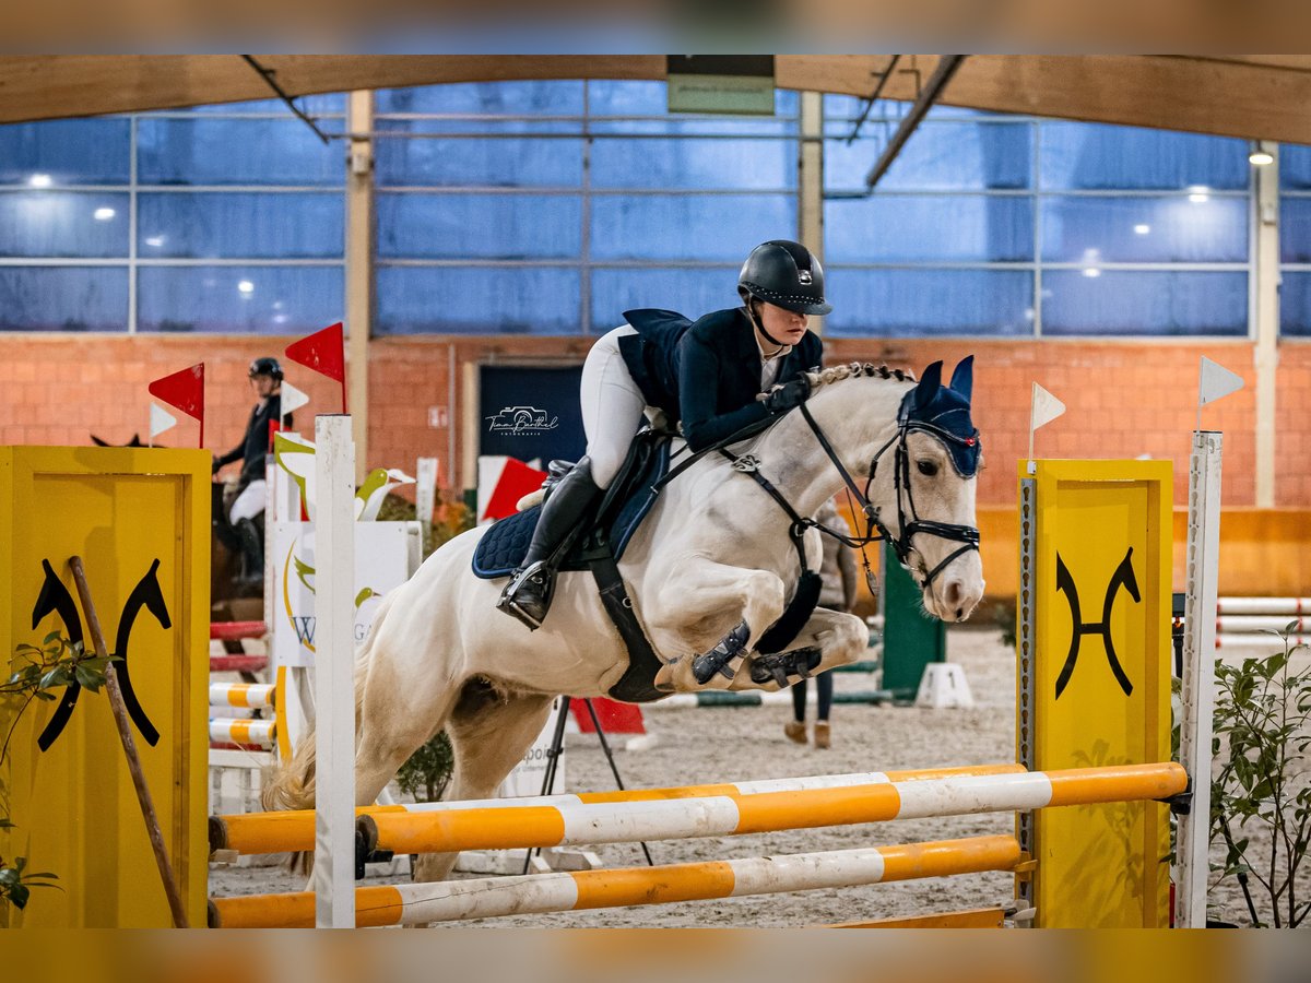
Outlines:
POLYGON ((1247 262, 1247 198, 1046 198, 1050 262, 1247 262))

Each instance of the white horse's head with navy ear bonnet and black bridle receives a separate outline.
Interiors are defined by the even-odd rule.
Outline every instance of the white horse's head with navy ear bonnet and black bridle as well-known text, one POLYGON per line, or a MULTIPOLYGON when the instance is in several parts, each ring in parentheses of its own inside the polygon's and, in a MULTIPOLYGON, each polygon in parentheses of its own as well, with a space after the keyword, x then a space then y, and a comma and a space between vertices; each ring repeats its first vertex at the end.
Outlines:
MULTIPOLYGON (((867 512, 920 586, 924 608, 943 621, 964 621, 983 598, 975 519, 982 447, 970 419, 973 363, 973 355, 962 360, 948 385, 943 363, 935 362, 899 397, 884 389, 886 417, 853 406, 842 408, 844 418, 823 414, 832 422, 834 451, 850 468, 847 477, 868 478, 861 495, 867 512)), ((874 366, 826 370, 819 377, 848 375, 906 379, 874 366)))

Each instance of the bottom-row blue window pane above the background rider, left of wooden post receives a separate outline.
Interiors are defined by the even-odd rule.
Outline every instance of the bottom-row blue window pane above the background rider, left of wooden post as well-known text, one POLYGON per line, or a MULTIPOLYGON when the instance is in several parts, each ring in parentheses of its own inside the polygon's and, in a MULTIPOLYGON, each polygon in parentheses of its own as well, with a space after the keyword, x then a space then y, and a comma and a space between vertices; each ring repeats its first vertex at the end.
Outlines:
POLYGON ((138 330, 308 334, 342 320, 342 280, 340 266, 144 266, 138 330))

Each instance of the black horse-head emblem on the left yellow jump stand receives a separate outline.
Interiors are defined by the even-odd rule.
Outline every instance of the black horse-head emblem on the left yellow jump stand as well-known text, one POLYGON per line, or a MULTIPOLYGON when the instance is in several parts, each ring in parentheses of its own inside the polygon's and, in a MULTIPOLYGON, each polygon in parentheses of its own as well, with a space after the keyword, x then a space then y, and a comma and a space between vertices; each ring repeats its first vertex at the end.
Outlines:
MULTIPOLYGON (((83 632, 81 615, 73 603, 73 595, 69 594, 68 587, 55 574, 49 560, 42 560, 41 566, 46 571, 46 581, 42 583, 37 604, 31 609, 33 629, 41 624, 41 619, 55 612, 59 615, 59 620, 64 623, 68 640, 75 644, 84 641, 85 634, 83 632)), ((127 708, 127 714, 132 718, 142 738, 151 747, 159 743, 160 733, 151 723, 151 718, 146 716, 146 710, 142 708, 142 703, 136 699, 136 692, 132 689, 132 678, 127 670, 127 644, 132 633, 132 624, 136 621, 136 615, 140 613, 142 608, 147 608, 155 615, 155 620, 160 623, 161 628, 173 626, 168 607, 164 604, 164 591, 160 590, 159 569, 160 561, 156 560, 151 564, 149 571, 136 582, 136 586, 127 598, 127 603, 123 604, 123 611, 118 617, 118 634, 114 638, 113 651, 114 655, 122 659, 114 663, 114 672, 118 676, 118 687, 123 693, 123 705, 127 708)), ((41 738, 37 741, 42 751, 49 751, 50 746, 63 733, 68 725, 68 718, 73 713, 73 708, 77 706, 79 696, 81 696, 81 685, 77 683, 71 683, 64 689, 63 699, 59 701, 54 714, 50 717, 50 722, 41 731, 41 738)))

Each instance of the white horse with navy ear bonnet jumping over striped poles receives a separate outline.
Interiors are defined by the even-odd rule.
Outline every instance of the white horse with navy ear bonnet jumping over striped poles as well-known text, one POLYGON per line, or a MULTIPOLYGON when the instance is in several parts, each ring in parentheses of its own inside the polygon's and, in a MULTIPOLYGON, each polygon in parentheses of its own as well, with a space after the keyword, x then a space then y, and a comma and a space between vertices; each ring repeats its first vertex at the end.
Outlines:
MULTIPOLYGON (((667 663, 662 688, 705 688, 696 676, 707 674, 694 671, 699 658, 720 670, 709 685, 779 688, 770 672, 756 670, 753 679, 766 661, 753 646, 797 583, 791 533, 801 531, 756 474, 800 516, 814 515, 844 485, 855 488, 920 583, 927 611, 944 621, 969 617, 983 595, 973 528, 978 446, 969 423, 970 359, 950 387, 941 385, 940 372, 935 363, 918 387, 907 375, 859 363, 812 374, 802 412, 734 444, 737 467, 708 453, 663 489, 619 564, 637 617, 667 663), (944 406, 944 396, 953 402, 944 406), (965 427, 944 423, 944 412, 964 413, 965 427), (971 455, 964 469, 962 450, 971 455)), ((604 696, 628 666, 589 573, 560 574, 536 632, 499 613, 501 583, 471 570, 484 532, 471 530, 443 545, 379 607, 355 666, 358 805, 372 803, 443 727, 455 752, 450 798, 493 796, 541 731, 557 695, 604 696)), ((814 531, 805 536, 812 566, 818 540, 814 531)), ((859 617, 817 608, 789 649, 809 651, 809 671, 821 672, 855 661, 867 642, 859 617)), ((311 807, 313 776, 311 733, 266 786, 265 805, 311 807)), ((417 876, 440 879, 454 860, 427 857, 417 876)))

